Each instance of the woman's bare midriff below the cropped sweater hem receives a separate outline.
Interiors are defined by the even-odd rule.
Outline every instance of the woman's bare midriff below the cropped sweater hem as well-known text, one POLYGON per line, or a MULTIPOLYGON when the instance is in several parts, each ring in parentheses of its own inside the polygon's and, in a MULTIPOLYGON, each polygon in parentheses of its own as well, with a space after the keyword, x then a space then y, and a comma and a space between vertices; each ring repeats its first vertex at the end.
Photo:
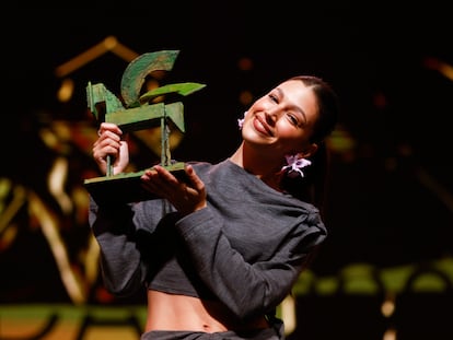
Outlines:
POLYGON ((268 328, 266 318, 237 323, 218 302, 198 297, 148 291, 148 316, 146 331, 189 330, 219 332, 226 330, 252 330, 268 328))

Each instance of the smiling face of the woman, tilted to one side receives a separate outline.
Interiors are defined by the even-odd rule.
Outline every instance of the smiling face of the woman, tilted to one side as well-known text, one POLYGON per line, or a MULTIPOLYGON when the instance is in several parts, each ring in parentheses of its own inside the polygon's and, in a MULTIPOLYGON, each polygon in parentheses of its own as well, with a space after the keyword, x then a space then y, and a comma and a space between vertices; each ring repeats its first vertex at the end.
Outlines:
POLYGON ((276 156, 313 151, 310 142, 317 119, 316 96, 300 80, 290 80, 258 98, 242 126, 244 141, 264 146, 276 156))

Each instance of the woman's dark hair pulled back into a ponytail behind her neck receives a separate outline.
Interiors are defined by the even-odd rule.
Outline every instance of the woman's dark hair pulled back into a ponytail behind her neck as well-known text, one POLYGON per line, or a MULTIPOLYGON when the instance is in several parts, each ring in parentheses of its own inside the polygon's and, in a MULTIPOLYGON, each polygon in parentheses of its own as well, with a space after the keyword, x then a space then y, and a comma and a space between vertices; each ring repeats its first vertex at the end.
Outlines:
POLYGON ((330 161, 325 139, 334 131, 338 121, 340 112, 338 96, 328 83, 314 75, 297 75, 288 80, 302 81, 316 96, 318 117, 310 140, 317 144, 317 150, 309 159, 312 164, 303 168, 304 176, 297 178, 284 176, 281 186, 294 197, 313 203, 323 211, 330 161))

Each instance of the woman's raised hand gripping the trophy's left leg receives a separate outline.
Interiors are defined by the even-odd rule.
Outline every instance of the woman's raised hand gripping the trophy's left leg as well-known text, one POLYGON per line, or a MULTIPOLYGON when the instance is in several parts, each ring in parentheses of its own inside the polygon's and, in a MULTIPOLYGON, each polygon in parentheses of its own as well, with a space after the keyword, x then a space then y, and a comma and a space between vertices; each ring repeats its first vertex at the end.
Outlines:
POLYGON ((121 173, 129 163, 129 148, 123 131, 112 122, 102 122, 100 138, 93 144, 93 157, 103 174, 107 173, 107 155, 112 157, 113 175, 121 173))

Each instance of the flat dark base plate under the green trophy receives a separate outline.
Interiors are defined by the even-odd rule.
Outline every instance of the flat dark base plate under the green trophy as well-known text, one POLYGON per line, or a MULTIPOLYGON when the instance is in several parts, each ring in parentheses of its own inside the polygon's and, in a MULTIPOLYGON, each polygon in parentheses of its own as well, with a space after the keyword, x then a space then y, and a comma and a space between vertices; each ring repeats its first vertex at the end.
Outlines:
MULTIPOLYGON (((175 177, 187 180, 184 163, 177 162, 164 166, 175 177)), ((158 196, 141 186, 140 177, 144 169, 136 173, 123 173, 113 176, 103 176, 85 179, 83 185, 96 203, 130 203, 156 199, 158 196)))

